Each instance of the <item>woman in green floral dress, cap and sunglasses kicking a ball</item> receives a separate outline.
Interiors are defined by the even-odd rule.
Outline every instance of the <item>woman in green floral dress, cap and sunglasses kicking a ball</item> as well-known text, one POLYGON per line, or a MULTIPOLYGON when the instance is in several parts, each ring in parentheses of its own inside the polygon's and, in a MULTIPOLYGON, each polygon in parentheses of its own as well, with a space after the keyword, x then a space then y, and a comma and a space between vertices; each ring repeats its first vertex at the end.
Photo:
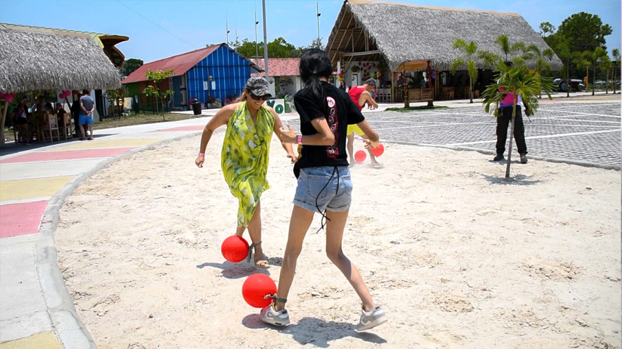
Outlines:
MULTIPOLYGON (((273 132, 281 139, 281 119, 273 108, 264 106, 270 97, 268 82, 263 77, 251 77, 244 87, 238 103, 221 108, 205 125, 198 157, 195 163, 203 167, 205 149, 214 131, 227 125, 222 144, 221 167, 224 180, 233 196, 238 198, 239 237, 249 229, 255 248, 255 265, 268 267, 268 258, 262 251, 262 219, 260 197, 270 187, 266 180, 268 155, 273 132)), ((288 158, 295 163, 297 157, 290 143, 283 143, 288 158)))

